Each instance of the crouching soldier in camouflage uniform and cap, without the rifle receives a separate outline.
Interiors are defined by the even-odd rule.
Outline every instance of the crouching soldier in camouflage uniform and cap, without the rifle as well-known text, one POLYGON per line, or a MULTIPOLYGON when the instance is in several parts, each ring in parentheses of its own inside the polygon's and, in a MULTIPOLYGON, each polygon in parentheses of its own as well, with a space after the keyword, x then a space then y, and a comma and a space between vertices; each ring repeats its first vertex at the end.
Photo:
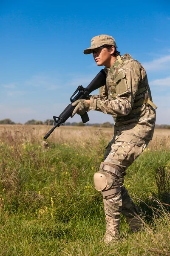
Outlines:
POLYGON ((136 204, 123 186, 126 169, 152 140, 156 119, 156 105, 152 102, 147 75, 142 65, 129 54, 120 56, 113 37, 98 35, 84 54, 93 54, 98 66, 105 66, 106 84, 99 95, 77 100, 75 113, 96 110, 114 118, 113 139, 108 144, 94 185, 102 191, 106 233, 105 242, 119 239, 120 214, 138 232, 142 223, 136 204))

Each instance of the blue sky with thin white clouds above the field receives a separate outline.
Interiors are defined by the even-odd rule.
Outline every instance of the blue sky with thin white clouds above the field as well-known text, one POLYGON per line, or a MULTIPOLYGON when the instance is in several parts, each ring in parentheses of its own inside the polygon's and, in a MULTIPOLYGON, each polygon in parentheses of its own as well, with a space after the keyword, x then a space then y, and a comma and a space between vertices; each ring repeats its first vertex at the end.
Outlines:
MULTIPOLYGON (((112 35, 147 71, 157 124, 170 125, 170 1, 0 1, 0 119, 24 123, 58 116, 77 86, 101 70, 95 35, 112 35)), ((113 122, 90 111, 90 122, 113 122)), ((81 121, 80 116, 68 119, 81 121)))

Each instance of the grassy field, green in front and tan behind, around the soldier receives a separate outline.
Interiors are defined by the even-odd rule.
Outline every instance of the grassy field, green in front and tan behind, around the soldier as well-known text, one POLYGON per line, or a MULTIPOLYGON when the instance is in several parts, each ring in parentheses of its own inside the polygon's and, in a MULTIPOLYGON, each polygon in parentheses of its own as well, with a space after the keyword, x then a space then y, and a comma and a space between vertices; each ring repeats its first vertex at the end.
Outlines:
POLYGON ((170 130, 156 130, 125 178, 143 230, 121 219, 106 246, 102 195, 93 175, 113 129, 0 125, 0 256, 169 256, 170 130))

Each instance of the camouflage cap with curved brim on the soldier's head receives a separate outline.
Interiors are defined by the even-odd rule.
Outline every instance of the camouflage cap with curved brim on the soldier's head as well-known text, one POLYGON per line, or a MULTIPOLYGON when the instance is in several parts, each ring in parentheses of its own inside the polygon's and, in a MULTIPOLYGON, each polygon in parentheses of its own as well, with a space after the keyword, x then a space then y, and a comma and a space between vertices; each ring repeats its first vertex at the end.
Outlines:
POLYGON ((84 50, 84 54, 92 53, 93 49, 99 48, 104 44, 116 46, 116 42, 111 35, 96 35, 91 39, 91 47, 84 50))

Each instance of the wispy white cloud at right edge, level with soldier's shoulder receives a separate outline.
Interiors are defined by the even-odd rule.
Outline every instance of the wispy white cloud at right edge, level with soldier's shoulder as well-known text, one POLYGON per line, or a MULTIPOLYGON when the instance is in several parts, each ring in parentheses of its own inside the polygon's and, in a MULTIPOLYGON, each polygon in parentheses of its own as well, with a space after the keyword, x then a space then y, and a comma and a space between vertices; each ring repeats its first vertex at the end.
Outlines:
POLYGON ((146 70, 156 71, 170 68, 170 55, 154 59, 153 61, 144 62, 143 66, 146 70))

